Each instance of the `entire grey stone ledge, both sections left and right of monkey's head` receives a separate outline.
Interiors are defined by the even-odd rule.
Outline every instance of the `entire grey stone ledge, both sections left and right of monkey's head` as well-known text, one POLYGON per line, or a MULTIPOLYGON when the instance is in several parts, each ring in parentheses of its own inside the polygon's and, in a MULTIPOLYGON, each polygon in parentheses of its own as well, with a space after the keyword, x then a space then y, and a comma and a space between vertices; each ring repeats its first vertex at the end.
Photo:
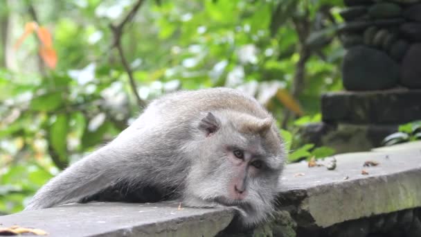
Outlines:
MULTIPOLYGON (((285 168, 275 222, 292 223, 284 228, 289 233, 421 207, 421 141, 335 157, 334 170, 308 168, 305 162, 285 168), (379 165, 363 167, 365 161, 379 165)), ((71 204, 1 216, 0 226, 44 229, 50 236, 215 236, 234 216, 231 209, 177 207, 176 202, 71 204)))

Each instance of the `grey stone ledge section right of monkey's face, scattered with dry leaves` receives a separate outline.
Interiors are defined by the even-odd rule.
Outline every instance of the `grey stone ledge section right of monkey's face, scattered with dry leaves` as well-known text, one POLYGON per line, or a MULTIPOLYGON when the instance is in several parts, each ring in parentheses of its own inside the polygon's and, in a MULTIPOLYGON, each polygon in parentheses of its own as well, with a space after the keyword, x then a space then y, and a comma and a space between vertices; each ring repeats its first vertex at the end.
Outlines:
POLYGON ((306 163, 287 166, 279 208, 292 210, 299 227, 325 228, 421 207, 421 142, 335 158, 335 170, 308 168, 306 163), (365 161, 379 165, 364 167, 365 161), (368 175, 362 175, 362 170, 368 175))

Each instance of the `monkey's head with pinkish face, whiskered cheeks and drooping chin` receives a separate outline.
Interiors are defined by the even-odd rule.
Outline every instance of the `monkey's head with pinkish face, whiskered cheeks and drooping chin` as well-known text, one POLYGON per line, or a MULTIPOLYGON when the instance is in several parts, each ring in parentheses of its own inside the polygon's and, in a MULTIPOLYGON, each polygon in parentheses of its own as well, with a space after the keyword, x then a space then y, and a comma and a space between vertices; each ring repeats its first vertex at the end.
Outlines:
POLYGON ((206 121, 211 129, 204 130, 186 188, 204 202, 235 207, 244 225, 255 225, 273 210, 284 154, 271 121, 245 120, 217 114, 206 121))

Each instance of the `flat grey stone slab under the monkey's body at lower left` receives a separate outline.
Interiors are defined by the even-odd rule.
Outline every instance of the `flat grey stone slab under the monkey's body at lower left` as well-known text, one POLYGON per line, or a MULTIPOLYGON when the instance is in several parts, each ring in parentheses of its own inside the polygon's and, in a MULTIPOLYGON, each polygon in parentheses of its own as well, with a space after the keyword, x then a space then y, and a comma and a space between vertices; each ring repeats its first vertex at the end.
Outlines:
POLYGON ((19 225, 49 236, 215 236, 233 218, 231 209, 178 209, 176 202, 69 204, 0 216, 0 227, 19 225))

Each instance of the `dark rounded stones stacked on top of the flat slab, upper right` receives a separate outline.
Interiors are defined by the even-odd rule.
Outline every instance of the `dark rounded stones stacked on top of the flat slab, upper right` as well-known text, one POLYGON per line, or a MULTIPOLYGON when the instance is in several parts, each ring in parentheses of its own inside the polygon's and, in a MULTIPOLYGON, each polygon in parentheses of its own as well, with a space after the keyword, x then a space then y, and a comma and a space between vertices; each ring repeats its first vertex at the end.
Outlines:
POLYGON ((344 1, 343 86, 421 88, 421 1, 344 1))

